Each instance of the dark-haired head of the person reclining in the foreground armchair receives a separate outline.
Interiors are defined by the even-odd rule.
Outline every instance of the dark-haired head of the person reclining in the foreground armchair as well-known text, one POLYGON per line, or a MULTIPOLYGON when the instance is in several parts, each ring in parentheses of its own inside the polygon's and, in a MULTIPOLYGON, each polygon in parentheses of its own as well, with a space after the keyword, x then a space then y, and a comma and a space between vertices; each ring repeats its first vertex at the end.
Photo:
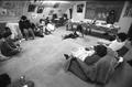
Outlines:
POLYGON ((95 47, 96 54, 100 57, 107 55, 107 47, 105 45, 96 45, 95 47))

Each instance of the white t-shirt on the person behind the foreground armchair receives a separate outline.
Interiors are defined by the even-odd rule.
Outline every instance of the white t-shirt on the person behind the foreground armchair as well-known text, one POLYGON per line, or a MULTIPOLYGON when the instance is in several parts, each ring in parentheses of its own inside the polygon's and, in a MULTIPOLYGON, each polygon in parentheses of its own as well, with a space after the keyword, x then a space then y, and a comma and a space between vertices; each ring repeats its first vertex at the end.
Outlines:
POLYGON ((109 44, 108 47, 112 48, 113 51, 118 51, 121 47, 123 47, 124 44, 125 44, 125 41, 124 42, 118 42, 117 40, 114 40, 109 44))

